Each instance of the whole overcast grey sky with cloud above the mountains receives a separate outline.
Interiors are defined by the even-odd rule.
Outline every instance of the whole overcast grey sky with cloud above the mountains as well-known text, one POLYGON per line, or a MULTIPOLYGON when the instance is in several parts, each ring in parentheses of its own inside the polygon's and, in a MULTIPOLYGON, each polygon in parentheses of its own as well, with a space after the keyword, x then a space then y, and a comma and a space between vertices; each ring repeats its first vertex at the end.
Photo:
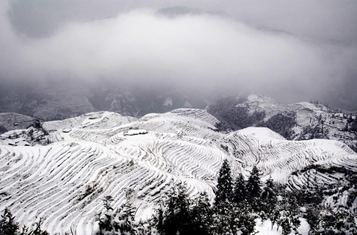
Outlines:
POLYGON ((165 82, 357 103, 355 0, 3 0, 0 11, 3 82, 165 82), (173 6, 188 8, 158 13, 173 6))

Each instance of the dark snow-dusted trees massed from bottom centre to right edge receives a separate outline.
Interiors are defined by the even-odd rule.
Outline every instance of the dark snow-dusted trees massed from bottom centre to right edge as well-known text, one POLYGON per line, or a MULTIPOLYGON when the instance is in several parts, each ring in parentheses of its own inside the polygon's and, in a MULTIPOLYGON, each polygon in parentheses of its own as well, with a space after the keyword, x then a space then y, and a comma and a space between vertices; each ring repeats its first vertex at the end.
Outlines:
MULTIPOLYGON (((190 200, 184 185, 169 190, 152 223, 157 233, 253 234, 257 218, 270 220, 272 229, 290 234, 305 218, 310 234, 356 234, 356 216, 343 207, 322 205, 323 189, 308 184, 301 190, 287 190, 268 178, 263 187, 257 167, 246 181, 238 174, 233 181, 227 160, 220 169, 215 202, 206 194, 190 200)), ((351 186, 354 187, 354 186, 351 186)))

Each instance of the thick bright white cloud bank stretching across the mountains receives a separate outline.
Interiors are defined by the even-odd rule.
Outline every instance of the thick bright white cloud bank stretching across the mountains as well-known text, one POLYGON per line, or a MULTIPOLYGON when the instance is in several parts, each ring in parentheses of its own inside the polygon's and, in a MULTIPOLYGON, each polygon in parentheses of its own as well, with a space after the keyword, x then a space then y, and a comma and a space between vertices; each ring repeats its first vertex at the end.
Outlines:
POLYGON ((16 32, 6 10, 0 17, 5 32, 0 49, 6 55, 0 63, 2 79, 108 79, 144 86, 165 80, 240 91, 290 84, 297 93, 314 97, 338 89, 356 72, 355 42, 316 43, 217 14, 168 18, 137 9, 70 21, 41 38, 16 32))

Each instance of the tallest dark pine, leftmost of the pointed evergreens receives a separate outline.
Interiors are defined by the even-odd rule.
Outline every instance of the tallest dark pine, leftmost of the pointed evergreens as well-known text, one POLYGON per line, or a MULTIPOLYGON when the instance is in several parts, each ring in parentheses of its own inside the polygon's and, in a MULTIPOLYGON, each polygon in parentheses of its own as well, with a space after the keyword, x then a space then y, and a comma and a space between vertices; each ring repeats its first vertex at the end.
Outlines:
POLYGON ((226 201, 231 202, 232 191, 231 168, 227 159, 225 159, 218 174, 215 206, 225 203, 226 201))

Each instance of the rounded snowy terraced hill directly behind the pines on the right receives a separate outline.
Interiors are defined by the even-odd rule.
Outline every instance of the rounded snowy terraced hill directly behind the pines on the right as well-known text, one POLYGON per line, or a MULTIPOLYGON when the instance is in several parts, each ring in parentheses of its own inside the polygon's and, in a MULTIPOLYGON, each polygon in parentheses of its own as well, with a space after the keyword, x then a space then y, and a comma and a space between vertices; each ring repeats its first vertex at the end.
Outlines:
MULTIPOLYGON (((264 175, 270 175, 277 182, 300 188, 306 184, 306 175, 294 175, 295 171, 311 165, 345 167, 357 169, 357 154, 347 145, 335 140, 284 140, 275 132, 263 127, 248 127, 221 140, 228 152, 236 156, 243 167, 257 165, 264 175)), ((314 179, 316 172, 309 171, 314 179)), ((317 176, 324 184, 335 183, 336 179, 326 174, 317 176)))

